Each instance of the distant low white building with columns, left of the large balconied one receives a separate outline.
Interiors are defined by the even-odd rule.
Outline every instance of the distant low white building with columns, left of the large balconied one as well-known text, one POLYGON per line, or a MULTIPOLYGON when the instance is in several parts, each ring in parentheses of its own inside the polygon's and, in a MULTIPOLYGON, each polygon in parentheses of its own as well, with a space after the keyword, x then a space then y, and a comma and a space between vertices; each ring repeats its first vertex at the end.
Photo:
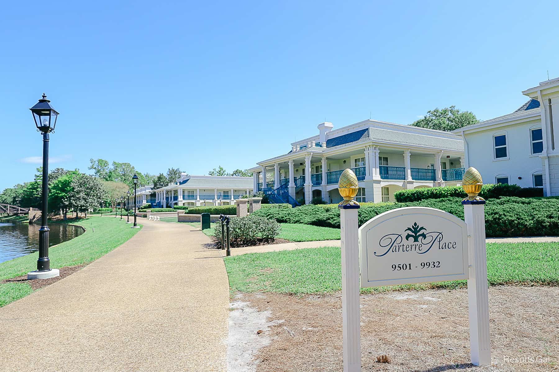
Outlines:
POLYGON ((209 206, 235 204, 241 195, 252 194, 252 177, 235 176, 191 176, 181 178, 168 186, 153 190, 153 207, 175 205, 209 206))

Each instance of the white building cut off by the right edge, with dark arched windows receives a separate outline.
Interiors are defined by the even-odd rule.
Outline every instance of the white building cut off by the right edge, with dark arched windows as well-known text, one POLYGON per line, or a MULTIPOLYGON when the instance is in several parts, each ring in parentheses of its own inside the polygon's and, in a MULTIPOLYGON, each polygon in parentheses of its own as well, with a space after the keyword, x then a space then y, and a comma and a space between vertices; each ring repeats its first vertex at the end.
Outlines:
POLYGON ((464 139, 465 166, 475 166, 485 183, 559 195, 559 79, 522 94, 529 100, 514 112, 453 131, 464 139))

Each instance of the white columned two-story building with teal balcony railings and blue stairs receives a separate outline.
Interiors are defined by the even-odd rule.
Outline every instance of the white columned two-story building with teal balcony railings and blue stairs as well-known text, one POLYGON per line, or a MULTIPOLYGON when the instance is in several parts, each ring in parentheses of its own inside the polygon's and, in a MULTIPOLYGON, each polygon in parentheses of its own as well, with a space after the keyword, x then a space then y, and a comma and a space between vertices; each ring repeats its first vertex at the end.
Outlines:
POLYGON ((377 120, 339 129, 324 122, 318 132, 291 143, 288 153, 258 162, 250 170, 254 189, 272 202, 309 204, 321 197, 337 203, 339 177, 352 168, 359 181, 356 200, 381 202, 394 201, 397 190, 462 181, 463 141, 454 133, 377 120))

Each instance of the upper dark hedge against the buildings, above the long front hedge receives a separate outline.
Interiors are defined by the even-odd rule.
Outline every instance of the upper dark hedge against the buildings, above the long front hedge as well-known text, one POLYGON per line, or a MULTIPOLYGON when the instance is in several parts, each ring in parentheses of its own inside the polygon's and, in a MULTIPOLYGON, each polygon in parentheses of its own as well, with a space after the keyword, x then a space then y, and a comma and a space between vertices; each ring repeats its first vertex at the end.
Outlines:
MULTIPOLYGON (((538 197, 543 196, 543 189, 541 187, 523 188, 506 183, 490 183, 481 187, 480 196, 484 199, 495 199, 501 196, 538 197)), ((398 190, 394 192, 394 199, 400 203, 425 199, 441 199, 443 197, 464 198, 466 197, 466 192, 462 190, 462 186, 422 187, 421 189, 398 190)))

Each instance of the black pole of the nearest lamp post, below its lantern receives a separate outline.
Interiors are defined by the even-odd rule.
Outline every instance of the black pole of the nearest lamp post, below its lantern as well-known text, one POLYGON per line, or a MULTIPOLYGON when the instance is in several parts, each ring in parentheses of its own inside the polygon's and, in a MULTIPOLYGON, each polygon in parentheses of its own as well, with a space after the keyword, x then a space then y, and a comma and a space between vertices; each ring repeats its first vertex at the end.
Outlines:
POLYGON ((49 271, 49 133, 42 134, 42 211, 41 228, 39 229, 39 259, 37 271, 49 271))

